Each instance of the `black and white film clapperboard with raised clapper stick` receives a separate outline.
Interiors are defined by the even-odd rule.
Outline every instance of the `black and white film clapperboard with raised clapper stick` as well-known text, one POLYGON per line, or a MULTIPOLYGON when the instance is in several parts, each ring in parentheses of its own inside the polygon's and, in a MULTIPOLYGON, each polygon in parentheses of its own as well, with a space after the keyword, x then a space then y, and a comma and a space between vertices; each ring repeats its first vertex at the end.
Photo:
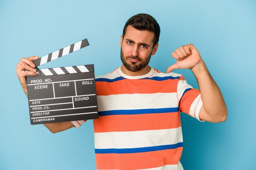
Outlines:
POLYGON ((84 39, 33 61, 38 74, 26 77, 31 124, 99 118, 93 64, 37 68, 88 45, 84 39))

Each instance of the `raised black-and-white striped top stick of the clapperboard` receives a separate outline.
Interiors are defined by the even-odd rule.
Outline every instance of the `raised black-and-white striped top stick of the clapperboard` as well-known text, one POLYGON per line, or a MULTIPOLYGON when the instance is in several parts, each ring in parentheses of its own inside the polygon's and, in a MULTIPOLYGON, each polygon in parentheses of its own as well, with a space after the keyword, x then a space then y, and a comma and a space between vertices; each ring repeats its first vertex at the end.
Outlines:
MULTIPOLYGON (((48 63, 50 61, 58 59, 58 58, 66 55, 66 54, 70 54, 71 52, 74 52, 74 51, 79 50, 81 48, 84 48, 86 46, 89 46, 89 43, 88 43, 87 39, 83 39, 82 41, 71 44, 70 46, 67 46, 65 48, 61 48, 61 49, 59 49, 55 52, 52 52, 52 53, 47 54, 43 57, 40 57, 36 60, 33 60, 33 62, 35 63, 36 67, 38 67, 39 65, 43 65, 43 64, 48 63)), ((37 71, 38 71, 38 69, 37 69, 37 71)))

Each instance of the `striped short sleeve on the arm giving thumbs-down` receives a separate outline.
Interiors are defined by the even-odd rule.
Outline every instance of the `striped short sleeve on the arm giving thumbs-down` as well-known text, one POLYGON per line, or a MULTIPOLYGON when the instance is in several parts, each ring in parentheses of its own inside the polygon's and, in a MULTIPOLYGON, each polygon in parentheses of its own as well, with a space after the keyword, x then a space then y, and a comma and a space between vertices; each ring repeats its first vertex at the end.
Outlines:
POLYGON ((179 99, 179 109, 181 112, 196 118, 197 120, 204 122, 199 119, 199 112, 203 105, 201 94, 198 89, 193 89, 191 85, 186 83, 183 76, 177 85, 177 96, 179 99))

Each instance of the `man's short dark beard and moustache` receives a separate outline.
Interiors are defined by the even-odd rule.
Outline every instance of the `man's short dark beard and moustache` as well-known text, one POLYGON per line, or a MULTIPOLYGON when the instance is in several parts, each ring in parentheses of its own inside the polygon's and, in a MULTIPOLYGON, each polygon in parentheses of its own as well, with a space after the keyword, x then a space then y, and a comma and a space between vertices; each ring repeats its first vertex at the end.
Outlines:
POLYGON ((149 61, 150 61, 150 58, 151 58, 151 53, 150 53, 150 55, 149 55, 148 57, 146 57, 145 59, 141 59, 141 58, 139 58, 138 56, 132 56, 132 55, 125 57, 125 56, 124 56, 124 53, 123 53, 123 51, 122 51, 122 48, 121 48, 121 55, 120 55, 120 57, 121 57, 122 63, 124 64, 124 66, 125 66, 125 68, 126 68, 127 70, 129 70, 130 72, 137 72, 137 71, 139 71, 139 70, 145 68, 145 67, 148 65, 148 63, 149 63, 149 61), (136 62, 136 63, 131 62, 130 64, 128 64, 128 63, 127 63, 127 60, 128 60, 128 59, 137 59, 138 62, 136 62))

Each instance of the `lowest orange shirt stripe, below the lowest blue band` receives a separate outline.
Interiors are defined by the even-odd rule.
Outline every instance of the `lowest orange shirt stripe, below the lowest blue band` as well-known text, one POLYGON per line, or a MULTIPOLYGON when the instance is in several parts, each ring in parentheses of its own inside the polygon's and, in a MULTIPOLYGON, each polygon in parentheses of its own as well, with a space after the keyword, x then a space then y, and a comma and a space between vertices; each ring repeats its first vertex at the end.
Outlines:
POLYGON ((183 147, 144 153, 95 154, 97 169, 146 169, 175 165, 180 161, 183 147))

